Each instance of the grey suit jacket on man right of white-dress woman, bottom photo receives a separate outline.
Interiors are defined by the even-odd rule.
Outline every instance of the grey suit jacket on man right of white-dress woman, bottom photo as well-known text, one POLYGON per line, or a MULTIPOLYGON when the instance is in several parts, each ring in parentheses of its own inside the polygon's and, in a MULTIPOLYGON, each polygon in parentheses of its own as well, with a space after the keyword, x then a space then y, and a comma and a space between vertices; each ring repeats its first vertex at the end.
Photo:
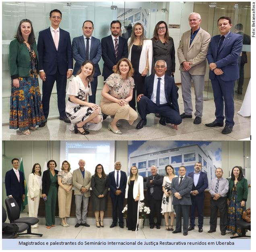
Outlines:
POLYGON ((190 192, 193 186, 193 179, 185 176, 182 183, 179 185, 179 177, 175 177, 171 181, 171 192, 180 193, 181 199, 177 199, 173 195, 172 204, 173 205, 192 205, 190 192))

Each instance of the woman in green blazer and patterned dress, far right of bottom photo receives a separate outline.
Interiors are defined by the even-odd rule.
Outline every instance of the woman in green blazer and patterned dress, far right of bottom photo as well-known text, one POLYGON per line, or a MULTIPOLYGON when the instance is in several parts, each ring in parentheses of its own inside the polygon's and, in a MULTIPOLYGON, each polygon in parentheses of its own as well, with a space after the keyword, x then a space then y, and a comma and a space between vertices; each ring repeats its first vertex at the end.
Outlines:
POLYGON ((238 236, 242 233, 241 227, 235 225, 237 219, 242 219, 245 211, 245 203, 248 197, 248 183, 244 178, 242 167, 235 166, 229 179, 228 209, 227 209, 227 231, 229 234, 238 236))

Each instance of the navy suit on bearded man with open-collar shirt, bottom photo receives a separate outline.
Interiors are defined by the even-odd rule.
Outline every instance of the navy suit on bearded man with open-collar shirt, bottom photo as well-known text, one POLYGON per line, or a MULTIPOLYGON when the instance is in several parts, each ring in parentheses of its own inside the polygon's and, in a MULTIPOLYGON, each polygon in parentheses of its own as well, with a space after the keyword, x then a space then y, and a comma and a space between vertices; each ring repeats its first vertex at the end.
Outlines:
POLYGON ((197 195, 190 195, 192 205, 190 209, 190 226, 195 226, 195 213, 198 213, 198 228, 202 228, 204 224, 204 190, 208 187, 207 174, 200 171, 198 183, 194 185, 194 172, 189 173, 188 177, 193 179, 193 186, 191 191, 197 190, 197 195))

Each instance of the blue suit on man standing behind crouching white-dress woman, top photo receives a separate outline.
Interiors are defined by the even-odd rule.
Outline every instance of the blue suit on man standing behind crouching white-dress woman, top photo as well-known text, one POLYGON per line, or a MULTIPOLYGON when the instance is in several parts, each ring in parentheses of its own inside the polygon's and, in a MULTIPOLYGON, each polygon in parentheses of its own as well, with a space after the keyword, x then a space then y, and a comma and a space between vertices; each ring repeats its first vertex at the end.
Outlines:
MULTIPOLYGON (((76 37, 72 41, 72 54, 73 58, 76 61, 74 65, 73 75, 76 75, 78 70, 81 69, 82 63, 86 59, 86 48, 85 48, 85 39, 84 36, 76 37)), ((95 37, 91 37, 91 47, 89 53, 89 60, 94 63, 94 75, 93 81, 91 82, 92 96, 89 96, 89 102, 96 102, 96 91, 98 85, 97 76, 101 75, 99 70, 99 61, 101 59, 101 41, 95 37)))

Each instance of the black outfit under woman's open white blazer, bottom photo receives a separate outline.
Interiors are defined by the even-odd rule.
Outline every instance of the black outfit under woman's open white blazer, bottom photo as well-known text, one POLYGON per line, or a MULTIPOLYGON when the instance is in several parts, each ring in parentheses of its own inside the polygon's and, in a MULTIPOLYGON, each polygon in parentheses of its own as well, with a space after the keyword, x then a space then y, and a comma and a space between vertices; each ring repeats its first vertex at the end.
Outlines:
POLYGON ((138 201, 133 198, 134 180, 130 181, 127 197, 127 228, 135 231, 138 222, 138 201))

